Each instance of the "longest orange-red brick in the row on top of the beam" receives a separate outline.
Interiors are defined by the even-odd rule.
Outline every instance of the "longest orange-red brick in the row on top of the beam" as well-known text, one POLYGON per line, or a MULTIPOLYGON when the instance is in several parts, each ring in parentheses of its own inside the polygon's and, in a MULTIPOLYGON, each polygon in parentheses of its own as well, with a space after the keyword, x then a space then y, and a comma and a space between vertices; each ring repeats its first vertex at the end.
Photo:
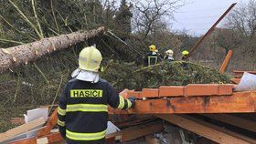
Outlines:
POLYGON ((185 96, 213 96, 219 94, 219 84, 189 84, 185 96))

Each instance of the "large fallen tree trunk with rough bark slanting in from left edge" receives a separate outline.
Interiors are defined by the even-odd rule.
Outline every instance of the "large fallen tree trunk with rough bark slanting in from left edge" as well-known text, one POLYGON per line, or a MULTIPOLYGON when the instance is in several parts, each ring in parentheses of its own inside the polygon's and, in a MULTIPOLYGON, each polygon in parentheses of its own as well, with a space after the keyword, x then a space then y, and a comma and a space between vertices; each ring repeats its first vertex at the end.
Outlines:
POLYGON ((39 57, 50 54, 54 51, 67 48, 79 42, 95 37, 103 33, 104 27, 85 32, 74 32, 68 35, 43 38, 39 41, 0 48, 0 74, 5 70, 16 67, 20 64, 27 64, 29 61, 36 60, 39 57))

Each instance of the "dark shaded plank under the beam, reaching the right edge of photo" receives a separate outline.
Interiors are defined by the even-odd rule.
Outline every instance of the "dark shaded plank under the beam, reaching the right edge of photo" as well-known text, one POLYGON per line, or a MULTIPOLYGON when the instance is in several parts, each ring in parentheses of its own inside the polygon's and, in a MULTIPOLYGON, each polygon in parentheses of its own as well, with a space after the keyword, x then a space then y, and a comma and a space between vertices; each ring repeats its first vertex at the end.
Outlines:
POLYGON ((239 127, 241 129, 247 129, 256 133, 256 122, 245 118, 239 118, 228 114, 204 114, 203 116, 219 120, 229 125, 239 127))

